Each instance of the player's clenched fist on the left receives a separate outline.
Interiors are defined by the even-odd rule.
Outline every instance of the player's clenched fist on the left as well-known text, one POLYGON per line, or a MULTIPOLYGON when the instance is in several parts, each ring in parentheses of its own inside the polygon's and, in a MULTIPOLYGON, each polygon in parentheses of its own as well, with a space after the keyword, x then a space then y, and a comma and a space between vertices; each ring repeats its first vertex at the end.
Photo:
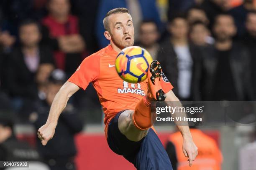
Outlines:
POLYGON ((53 138, 55 128, 55 123, 46 123, 38 129, 37 135, 38 138, 41 140, 42 145, 46 145, 47 142, 53 138))

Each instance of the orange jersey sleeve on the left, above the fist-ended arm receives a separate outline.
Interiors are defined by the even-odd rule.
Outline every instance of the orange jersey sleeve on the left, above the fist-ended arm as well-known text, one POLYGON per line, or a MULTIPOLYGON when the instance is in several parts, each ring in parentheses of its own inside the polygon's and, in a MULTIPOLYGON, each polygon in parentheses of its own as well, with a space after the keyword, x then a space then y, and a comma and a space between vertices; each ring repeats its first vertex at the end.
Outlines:
POLYGON ((68 81, 85 90, 90 82, 97 79, 99 74, 100 56, 90 55, 82 61, 81 65, 79 65, 76 72, 74 72, 68 81))

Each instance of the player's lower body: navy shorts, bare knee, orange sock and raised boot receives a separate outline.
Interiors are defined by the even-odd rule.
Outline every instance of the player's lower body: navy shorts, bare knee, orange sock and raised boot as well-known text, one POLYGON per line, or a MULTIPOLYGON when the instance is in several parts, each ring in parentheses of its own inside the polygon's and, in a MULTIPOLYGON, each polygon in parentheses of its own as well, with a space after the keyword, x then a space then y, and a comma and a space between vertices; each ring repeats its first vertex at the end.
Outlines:
MULTIPOLYGON (((159 66, 157 61, 151 64, 151 72, 148 73, 149 90, 138 102, 135 110, 118 113, 109 125, 109 130, 117 134, 109 138, 113 140, 118 138, 116 141, 119 141, 119 145, 113 146, 112 150, 122 153, 120 155, 133 163, 137 170, 172 170, 169 157, 151 128, 154 123, 154 115, 151 115, 151 100, 159 100, 159 97, 162 97, 161 100, 165 99, 160 85, 162 74, 159 66)), ((111 142, 109 145, 111 148, 111 142)))

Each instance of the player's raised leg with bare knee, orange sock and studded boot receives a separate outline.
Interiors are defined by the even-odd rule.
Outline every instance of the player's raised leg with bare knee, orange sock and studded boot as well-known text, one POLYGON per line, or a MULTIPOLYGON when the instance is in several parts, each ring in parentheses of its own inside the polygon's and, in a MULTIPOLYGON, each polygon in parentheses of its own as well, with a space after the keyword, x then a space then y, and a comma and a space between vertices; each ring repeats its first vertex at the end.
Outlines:
POLYGON ((120 132, 131 141, 139 141, 146 136, 148 128, 154 124, 155 115, 151 115, 151 100, 164 100, 165 94, 161 89, 161 65, 154 60, 148 71, 148 92, 138 102, 135 110, 125 110, 118 118, 120 132))

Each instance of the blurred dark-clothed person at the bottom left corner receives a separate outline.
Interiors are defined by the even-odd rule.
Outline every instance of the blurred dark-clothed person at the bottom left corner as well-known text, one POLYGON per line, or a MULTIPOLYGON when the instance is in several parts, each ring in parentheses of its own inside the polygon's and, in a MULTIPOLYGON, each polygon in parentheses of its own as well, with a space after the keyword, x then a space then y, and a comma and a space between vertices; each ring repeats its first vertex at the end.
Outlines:
POLYGON ((38 152, 23 141, 19 141, 13 133, 13 121, 0 117, 0 161, 38 161, 38 152))

